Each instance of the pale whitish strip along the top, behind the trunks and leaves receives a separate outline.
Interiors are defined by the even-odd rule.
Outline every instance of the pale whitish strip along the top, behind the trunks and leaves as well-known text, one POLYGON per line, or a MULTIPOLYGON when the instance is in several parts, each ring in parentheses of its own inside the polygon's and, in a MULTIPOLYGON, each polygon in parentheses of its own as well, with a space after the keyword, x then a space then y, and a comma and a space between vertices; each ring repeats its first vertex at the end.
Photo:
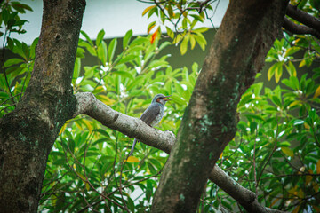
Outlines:
MULTIPOLYGON (((24 27, 27 33, 23 35, 12 34, 12 37, 31 44, 40 34, 43 2, 42 0, 22 0, 21 2, 31 6, 34 12, 21 15, 21 19, 29 21, 24 27)), ((129 29, 133 30, 133 35, 144 35, 147 33, 148 24, 157 20, 156 16, 152 16, 150 20, 147 19, 147 16, 142 17, 143 10, 151 4, 143 4, 136 0, 87 0, 86 2, 82 30, 92 39, 102 28, 106 32, 105 38, 122 37, 129 29)), ((213 3, 212 7, 215 8, 216 4, 213 3)), ((217 11, 212 17, 215 27, 220 26, 227 6, 228 0, 220 0, 217 11)), ((212 24, 209 20, 205 20, 203 26, 212 27, 212 24)), ((164 32, 164 28, 162 31, 164 32)), ((3 43, 3 39, 3 37, 0 38, 1 43, 3 43)))

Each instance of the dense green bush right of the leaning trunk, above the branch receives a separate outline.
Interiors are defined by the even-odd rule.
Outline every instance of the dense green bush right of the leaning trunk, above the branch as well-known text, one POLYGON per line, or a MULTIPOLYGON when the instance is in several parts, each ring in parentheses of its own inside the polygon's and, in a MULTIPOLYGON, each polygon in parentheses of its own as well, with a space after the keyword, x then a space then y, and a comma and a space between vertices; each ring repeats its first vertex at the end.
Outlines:
POLYGON ((291 76, 274 90, 255 83, 238 105, 241 121, 220 166, 267 207, 314 209, 319 194, 320 87, 291 76), (307 89, 308 88, 308 89, 307 89), (264 89, 264 90, 263 90, 264 89))

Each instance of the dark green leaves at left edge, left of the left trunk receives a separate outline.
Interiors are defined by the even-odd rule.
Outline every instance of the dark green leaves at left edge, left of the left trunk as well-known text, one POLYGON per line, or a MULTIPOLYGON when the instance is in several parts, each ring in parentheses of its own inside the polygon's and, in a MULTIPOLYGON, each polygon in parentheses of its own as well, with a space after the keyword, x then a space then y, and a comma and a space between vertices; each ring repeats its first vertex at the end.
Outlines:
POLYGON ((28 20, 21 20, 20 14, 32 11, 27 4, 5 1, 1 3, 0 37, 3 39, 2 49, 7 49, 15 54, 12 59, 4 61, 4 51, 1 55, 0 73, 0 116, 12 111, 30 79, 33 69, 37 39, 30 47, 20 43, 17 39, 10 38, 12 33, 24 34, 23 24, 28 20))

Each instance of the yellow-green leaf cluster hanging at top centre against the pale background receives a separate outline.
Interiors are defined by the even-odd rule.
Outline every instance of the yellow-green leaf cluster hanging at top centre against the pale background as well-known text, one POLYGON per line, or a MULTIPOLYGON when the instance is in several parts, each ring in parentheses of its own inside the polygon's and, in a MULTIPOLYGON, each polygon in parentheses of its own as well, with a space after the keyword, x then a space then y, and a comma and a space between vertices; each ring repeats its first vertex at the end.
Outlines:
MULTIPOLYGON (((154 2, 151 1, 150 2, 154 2)), ((196 24, 204 22, 204 19, 208 18, 207 11, 213 11, 210 4, 202 4, 201 2, 188 2, 188 1, 164 1, 157 4, 148 6, 142 15, 147 15, 150 18, 152 15, 156 15, 160 18, 159 23, 156 21, 151 22, 148 25, 148 34, 156 28, 153 32, 153 36, 161 34, 160 26, 164 25, 167 31, 167 35, 172 38, 172 43, 180 43, 180 53, 185 54, 188 50, 188 43, 193 50, 196 43, 204 51, 207 44, 203 33, 209 28, 196 28, 196 24), (166 26, 167 23, 173 25, 172 28, 166 26)), ((152 40, 151 40, 152 41, 152 40)))

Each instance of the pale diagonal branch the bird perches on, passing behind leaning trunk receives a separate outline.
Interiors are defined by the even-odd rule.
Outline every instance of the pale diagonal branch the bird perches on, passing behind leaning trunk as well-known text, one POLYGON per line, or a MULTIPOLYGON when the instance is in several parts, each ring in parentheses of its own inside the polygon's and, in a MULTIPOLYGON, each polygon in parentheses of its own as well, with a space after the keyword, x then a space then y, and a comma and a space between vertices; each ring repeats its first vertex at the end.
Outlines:
MULTIPOLYGON (((176 140, 170 131, 161 131, 149 127, 138 118, 121 114, 96 99, 91 92, 76 93, 76 113, 86 114, 101 122, 108 128, 118 130, 130 138, 138 138, 148 146, 156 147, 169 154, 176 140)), ((228 193, 236 201, 250 212, 283 212, 276 209, 268 209, 260 205, 256 196, 251 191, 229 177, 217 165, 210 174, 210 180, 228 193)))

